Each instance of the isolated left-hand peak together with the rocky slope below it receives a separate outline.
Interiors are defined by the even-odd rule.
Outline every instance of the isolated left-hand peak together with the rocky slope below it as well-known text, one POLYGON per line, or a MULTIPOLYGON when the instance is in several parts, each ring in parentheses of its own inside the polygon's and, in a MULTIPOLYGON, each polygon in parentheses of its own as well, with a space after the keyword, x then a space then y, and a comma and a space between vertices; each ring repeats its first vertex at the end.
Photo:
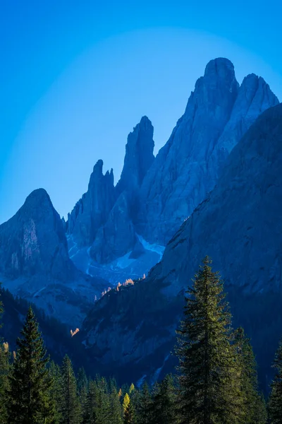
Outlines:
POLYGON ((44 189, 0 225, 0 276, 16 295, 63 322, 79 324, 107 283, 84 276, 68 257, 63 223, 44 189))

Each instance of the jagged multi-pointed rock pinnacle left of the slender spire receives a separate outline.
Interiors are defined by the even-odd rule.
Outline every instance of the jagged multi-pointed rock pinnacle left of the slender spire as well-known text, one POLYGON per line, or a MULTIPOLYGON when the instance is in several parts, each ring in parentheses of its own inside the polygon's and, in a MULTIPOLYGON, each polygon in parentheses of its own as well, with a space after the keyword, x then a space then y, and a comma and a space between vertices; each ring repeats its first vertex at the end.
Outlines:
POLYGON ((73 236, 78 247, 92 244, 97 231, 106 223, 115 199, 113 170, 103 175, 103 161, 98 160, 87 192, 68 214, 67 234, 73 236))

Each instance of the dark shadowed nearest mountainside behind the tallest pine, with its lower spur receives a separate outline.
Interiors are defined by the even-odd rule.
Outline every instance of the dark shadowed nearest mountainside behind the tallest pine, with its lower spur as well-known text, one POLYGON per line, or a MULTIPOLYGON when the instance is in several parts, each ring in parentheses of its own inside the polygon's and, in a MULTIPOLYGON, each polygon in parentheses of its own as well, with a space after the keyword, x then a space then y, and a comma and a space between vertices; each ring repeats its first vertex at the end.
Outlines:
POLYGON ((161 369, 175 341, 183 290, 208 254, 226 281, 236 324, 252 337, 266 375, 282 320, 281 199, 278 105, 233 148, 218 184, 173 236, 145 281, 113 290, 88 315, 82 335, 92 355, 104 366, 135 370, 136 379, 161 369))

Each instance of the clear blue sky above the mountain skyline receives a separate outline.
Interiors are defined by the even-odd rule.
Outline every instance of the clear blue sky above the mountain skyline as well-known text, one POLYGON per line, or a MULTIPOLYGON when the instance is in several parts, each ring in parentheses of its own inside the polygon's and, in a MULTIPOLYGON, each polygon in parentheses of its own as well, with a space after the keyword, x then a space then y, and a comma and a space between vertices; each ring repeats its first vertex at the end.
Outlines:
POLYGON ((66 215, 99 158, 118 179, 142 114, 158 151, 209 59, 282 99, 281 13, 279 0, 1 0, 0 222, 37 187, 66 215))

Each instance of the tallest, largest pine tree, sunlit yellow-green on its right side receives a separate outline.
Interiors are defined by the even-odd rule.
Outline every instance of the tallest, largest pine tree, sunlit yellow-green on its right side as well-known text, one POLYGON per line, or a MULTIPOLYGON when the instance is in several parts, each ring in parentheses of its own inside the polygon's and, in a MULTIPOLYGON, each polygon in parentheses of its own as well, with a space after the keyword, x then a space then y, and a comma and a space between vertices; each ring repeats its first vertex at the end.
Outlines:
POLYGON ((180 423, 240 422, 240 391, 231 347, 231 313, 219 273, 206 257, 185 297, 178 334, 180 423))

